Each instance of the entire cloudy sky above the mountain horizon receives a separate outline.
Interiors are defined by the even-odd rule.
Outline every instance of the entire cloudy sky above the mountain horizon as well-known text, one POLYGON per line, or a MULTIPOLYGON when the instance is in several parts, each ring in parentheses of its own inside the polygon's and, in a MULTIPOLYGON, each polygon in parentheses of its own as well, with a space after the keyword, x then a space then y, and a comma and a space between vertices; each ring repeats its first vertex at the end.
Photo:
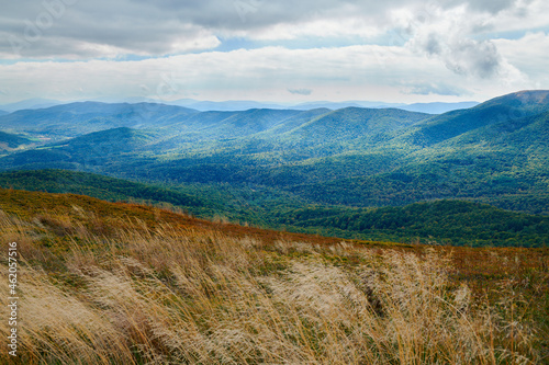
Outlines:
POLYGON ((547 0, 0 0, 0 104, 549 89, 547 0))

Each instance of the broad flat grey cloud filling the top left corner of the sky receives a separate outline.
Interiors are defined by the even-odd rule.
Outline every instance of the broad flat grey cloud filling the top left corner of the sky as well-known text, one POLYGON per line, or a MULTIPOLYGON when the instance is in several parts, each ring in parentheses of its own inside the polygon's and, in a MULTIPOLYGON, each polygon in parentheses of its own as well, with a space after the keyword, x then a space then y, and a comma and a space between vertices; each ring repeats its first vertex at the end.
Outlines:
POLYGON ((175 44, 204 48, 214 35, 177 14, 132 1, 88 2, 46 0, 35 7, 12 3, 5 7, 10 22, 0 24, 0 53, 22 57, 105 57, 104 48, 115 47, 128 54, 165 55, 175 44), (7 24, 7 25, 4 25, 7 24))

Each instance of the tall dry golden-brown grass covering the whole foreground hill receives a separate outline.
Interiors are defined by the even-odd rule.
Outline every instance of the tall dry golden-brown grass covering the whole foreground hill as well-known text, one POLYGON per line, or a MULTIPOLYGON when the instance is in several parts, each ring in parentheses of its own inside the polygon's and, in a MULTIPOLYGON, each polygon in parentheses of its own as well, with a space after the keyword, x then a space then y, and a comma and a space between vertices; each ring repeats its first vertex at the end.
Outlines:
MULTIPOLYGON (((547 361, 538 309, 529 289, 519 289, 522 276, 493 277, 490 289, 479 289, 479 281, 464 280, 471 272, 463 258, 472 253, 463 250, 271 243, 223 227, 148 227, 131 217, 105 227, 80 210, 79 220, 44 212, 23 220, 0 215, 0 240, 16 241, 25 260, 20 363, 547 361)), ((508 258, 493 252, 494 262, 508 258)), ((523 266, 529 288, 544 293, 548 273, 523 266)), ((8 331, 2 321, 0 335, 8 331)), ((0 363, 9 361, 2 351, 0 363)))

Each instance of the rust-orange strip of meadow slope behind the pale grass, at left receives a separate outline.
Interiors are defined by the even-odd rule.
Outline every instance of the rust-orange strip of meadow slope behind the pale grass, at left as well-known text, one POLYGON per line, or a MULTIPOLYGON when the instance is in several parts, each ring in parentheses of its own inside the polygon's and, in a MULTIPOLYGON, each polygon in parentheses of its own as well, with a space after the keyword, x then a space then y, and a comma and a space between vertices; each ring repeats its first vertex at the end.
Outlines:
MULTIPOLYGON (((184 214, 178 214, 158 207, 127 203, 110 203, 94 197, 76 194, 52 194, 43 192, 27 192, 0 187, 0 217, 4 214, 14 215, 23 219, 36 218, 54 231, 63 232, 63 220, 44 219, 44 214, 56 217, 70 217, 74 224, 82 223, 96 232, 112 233, 117 228, 124 228, 124 223, 137 223, 144 229, 171 227, 182 228, 195 232, 222 232, 226 237, 257 238, 273 243, 278 240, 293 240, 311 243, 338 243, 341 239, 330 237, 309 236, 243 227, 233 224, 212 223, 198 219, 184 214), (3 214, 1 213, 3 210, 3 214), (117 226, 121 225, 121 226, 117 226)), ((66 232, 69 232, 67 230, 66 232)), ((383 242, 376 242, 384 244, 383 242)))

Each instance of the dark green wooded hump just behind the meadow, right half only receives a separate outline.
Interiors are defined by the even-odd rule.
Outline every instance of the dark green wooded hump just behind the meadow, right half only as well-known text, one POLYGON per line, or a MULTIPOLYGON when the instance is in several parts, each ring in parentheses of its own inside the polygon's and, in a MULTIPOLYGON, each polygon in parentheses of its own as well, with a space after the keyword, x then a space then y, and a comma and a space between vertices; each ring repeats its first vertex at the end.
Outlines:
POLYGON ((273 215, 281 224, 323 235, 471 247, 549 247, 549 217, 464 201, 403 207, 306 207, 273 215))

